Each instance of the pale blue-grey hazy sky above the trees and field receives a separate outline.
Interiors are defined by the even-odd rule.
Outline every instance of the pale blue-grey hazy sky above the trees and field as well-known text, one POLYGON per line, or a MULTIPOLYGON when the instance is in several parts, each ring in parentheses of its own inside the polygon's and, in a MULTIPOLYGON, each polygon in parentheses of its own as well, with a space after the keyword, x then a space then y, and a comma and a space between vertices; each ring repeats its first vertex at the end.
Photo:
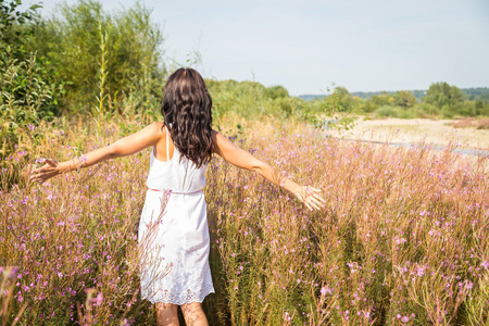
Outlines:
MULTIPOLYGON (((134 1, 100 0, 106 11, 134 1)), ((75 3, 76 0, 66 0, 75 3)), ((165 60, 193 52, 206 78, 281 85, 292 96, 489 87, 488 0, 143 0, 165 60)), ((24 0, 24 4, 37 3, 24 0)), ((43 16, 59 0, 45 0, 43 16)))

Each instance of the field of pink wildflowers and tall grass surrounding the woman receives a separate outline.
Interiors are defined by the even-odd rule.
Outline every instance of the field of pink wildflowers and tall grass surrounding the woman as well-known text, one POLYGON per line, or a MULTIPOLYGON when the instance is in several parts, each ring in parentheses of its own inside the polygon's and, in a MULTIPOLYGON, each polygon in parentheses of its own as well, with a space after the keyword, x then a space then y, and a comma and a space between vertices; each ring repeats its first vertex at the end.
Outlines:
MULTIPOLYGON (((327 204, 308 211, 212 160, 211 325, 489 323, 487 158, 324 138, 273 120, 227 126, 241 148, 322 189, 327 204)), ((66 160, 127 133, 108 124, 95 137, 82 122, 38 128, 43 140, 25 131, 0 175, 2 325, 154 325, 138 279, 149 152, 38 186, 25 178, 36 158, 66 160)))

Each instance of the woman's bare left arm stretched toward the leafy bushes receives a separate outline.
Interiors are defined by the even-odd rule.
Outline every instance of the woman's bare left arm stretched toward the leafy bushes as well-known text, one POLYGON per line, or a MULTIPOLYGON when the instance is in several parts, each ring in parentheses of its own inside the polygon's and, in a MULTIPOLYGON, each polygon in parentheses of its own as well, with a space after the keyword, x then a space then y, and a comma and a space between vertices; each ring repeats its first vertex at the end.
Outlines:
POLYGON ((75 158, 61 163, 53 159, 47 159, 42 167, 36 168, 30 173, 30 180, 42 184, 59 174, 91 166, 109 159, 135 154, 156 143, 163 133, 162 125, 162 123, 153 123, 136 134, 124 137, 108 147, 88 152, 82 155, 82 158, 75 158))

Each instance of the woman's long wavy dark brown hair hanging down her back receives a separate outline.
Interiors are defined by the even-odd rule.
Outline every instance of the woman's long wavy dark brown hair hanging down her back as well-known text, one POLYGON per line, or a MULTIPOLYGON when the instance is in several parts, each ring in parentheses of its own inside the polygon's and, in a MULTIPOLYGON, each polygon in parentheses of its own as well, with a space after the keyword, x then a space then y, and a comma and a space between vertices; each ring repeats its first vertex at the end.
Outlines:
POLYGON ((212 158, 212 98, 202 76, 192 68, 179 68, 163 91, 161 113, 166 129, 183 156, 197 168, 212 158))

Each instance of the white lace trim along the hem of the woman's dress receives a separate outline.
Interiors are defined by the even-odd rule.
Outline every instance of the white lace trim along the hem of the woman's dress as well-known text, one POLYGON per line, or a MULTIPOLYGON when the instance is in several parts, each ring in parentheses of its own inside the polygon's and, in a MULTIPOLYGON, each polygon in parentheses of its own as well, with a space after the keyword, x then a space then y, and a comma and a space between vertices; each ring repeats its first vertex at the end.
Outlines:
POLYGON ((160 290, 154 294, 150 294, 148 292, 150 291, 143 291, 141 297, 142 299, 149 300, 152 304, 161 302, 181 305, 192 302, 202 303, 208 294, 214 293, 214 286, 212 283, 204 284, 199 292, 188 289, 187 291, 183 291, 177 294, 171 293, 168 290, 160 290))

